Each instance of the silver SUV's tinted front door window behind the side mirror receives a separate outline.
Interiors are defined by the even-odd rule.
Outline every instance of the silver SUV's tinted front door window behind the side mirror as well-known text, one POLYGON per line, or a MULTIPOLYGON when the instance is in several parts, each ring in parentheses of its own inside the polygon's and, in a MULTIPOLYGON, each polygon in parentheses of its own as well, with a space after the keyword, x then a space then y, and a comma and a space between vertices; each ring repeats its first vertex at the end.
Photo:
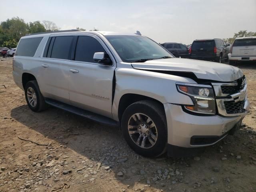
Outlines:
POLYGON ((78 37, 75 56, 76 61, 97 63, 93 60, 94 53, 96 52, 105 52, 98 40, 90 36, 78 37))

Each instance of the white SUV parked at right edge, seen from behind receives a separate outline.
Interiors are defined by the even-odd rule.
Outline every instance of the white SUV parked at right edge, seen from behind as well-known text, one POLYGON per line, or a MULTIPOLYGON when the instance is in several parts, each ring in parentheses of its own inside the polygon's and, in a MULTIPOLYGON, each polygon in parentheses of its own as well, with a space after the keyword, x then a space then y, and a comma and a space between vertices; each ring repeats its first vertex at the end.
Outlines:
POLYGON ((229 63, 236 61, 256 62, 256 36, 236 38, 228 54, 229 63))

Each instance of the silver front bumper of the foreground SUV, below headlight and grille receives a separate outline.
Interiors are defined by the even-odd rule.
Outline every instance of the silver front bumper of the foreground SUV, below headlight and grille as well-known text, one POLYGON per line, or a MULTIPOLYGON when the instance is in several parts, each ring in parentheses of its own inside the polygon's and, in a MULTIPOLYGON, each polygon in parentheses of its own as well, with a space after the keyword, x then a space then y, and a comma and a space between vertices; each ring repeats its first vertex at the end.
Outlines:
POLYGON ((249 111, 249 102, 246 102, 245 112, 239 116, 224 117, 196 116, 182 110, 180 105, 164 104, 168 127, 168 144, 182 148, 198 148, 211 146, 225 137, 225 134, 240 124, 249 111), (212 137, 220 139, 207 140, 205 143, 193 142, 195 137, 212 137), (222 137, 223 136, 223 137, 222 137))

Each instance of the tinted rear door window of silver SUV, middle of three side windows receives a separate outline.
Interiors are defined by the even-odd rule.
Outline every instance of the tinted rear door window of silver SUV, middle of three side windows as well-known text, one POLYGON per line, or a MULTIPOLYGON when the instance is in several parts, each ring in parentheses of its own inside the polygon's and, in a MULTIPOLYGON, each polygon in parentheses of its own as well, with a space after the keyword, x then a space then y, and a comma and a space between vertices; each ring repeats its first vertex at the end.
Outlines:
POLYGON ((57 59, 69 59, 72 40, 73 36, 56 37, 52 46, 52 53, 48 52, 47 56, 57 59))

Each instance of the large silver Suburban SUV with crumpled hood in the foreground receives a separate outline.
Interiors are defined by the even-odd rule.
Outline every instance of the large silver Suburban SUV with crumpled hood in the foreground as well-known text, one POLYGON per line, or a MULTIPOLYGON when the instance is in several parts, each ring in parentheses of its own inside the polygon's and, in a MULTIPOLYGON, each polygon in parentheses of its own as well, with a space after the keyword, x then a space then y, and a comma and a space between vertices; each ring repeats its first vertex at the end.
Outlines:
POLYGON ((120 126, 148 157, 194 154, 233 134, 249 110, 240 69, 175 58, 139 32, 24 36, 13 78, 34 112, 50 105, 120 126))

